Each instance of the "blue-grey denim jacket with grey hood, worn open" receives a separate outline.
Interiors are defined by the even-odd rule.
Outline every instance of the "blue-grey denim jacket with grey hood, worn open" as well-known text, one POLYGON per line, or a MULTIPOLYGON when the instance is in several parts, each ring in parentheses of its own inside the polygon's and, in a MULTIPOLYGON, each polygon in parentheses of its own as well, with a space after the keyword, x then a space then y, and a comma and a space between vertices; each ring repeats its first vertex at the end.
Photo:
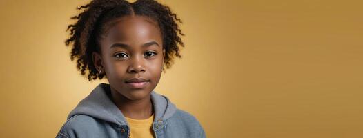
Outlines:
MULTIPOLYGON (((190 113, 178 109, 164 95, 151 92, 154 106, 153 130, 157 138, 206 137, 199 121, 190 113)), ((100 83, 90 95, 70 112, 57 138, 126 138, 130 126, 122 112, 110 99, 110 85, 100 83)))

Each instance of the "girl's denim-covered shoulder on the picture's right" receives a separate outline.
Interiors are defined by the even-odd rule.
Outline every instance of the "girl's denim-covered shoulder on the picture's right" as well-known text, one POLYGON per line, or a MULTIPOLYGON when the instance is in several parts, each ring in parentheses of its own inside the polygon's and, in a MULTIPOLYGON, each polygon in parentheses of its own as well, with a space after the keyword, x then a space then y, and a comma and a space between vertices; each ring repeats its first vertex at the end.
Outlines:
POLYGON ((179 130, 185 130, 193 134, 193 137, 205 137, 204 128, 199 123, 197 117, 185 110, 177 109, 175 114, 168 119, 168 125, 179 130))

